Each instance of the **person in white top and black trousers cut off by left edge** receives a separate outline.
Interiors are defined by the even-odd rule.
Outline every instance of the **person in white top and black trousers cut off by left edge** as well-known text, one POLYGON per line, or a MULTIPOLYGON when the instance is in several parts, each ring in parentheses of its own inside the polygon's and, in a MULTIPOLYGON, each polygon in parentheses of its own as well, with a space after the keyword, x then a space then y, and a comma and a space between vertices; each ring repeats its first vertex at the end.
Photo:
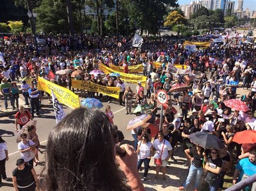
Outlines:
POLYGON ((6 160, 9 160, 8 148, 4 139, 0 137, 0 187, 2 187, 2 179, 8 179, 5 173, 6 160))

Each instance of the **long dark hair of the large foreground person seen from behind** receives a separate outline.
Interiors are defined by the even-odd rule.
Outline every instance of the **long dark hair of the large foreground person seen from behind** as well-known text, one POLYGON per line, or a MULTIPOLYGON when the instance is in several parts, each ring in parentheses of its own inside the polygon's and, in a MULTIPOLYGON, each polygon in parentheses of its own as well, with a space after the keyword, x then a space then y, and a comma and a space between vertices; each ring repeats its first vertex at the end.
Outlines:
POLYGON ((48 139, 43 187, 131 190, 116 165, 112 131, 107 116, 100 110, 77 108, 65 116, 48 139))

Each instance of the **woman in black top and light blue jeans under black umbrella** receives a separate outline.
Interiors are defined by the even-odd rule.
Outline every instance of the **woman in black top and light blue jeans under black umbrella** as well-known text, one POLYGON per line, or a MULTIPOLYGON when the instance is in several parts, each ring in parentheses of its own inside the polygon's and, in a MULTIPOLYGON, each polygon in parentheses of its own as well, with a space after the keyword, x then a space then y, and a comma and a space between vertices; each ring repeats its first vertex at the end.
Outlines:
POLYGON ((194 191, 198 190, 198 186, 200 183, 201 175, 204 172, 203 169, 203 159, 206 161, 206 153, 204 152, 204 148, 200 146, 194 146, 193 148, 188 148, 185 150, 185 154, 187 158, 190 159, 190 172, 187 175, 187 179, 184 182, 183 186, 179 187, 179 190, 185 190, 191 180, 196 176, 196 180, 194 182, 194 191))

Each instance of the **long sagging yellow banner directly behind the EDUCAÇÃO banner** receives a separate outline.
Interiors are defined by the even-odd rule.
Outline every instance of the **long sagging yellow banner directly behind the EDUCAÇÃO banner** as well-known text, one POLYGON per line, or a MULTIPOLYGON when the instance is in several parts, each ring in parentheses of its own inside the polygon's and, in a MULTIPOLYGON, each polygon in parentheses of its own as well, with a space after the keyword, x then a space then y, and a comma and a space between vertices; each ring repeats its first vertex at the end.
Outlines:
POLYGON ((102 72, 104 72, 105 74, 110 74, 110 73, 118 73, 121 75, 120 79, 125 81, 125 82, 129 82, 129 83, 134 83, 137 84, 138 81, 142 82, 142 86, 145 87, 146 86, 146 80, 147 77, 146 76, 140 76, 140 75, 134 75, 134 74, 126 74, 123 72, 118 72, 116 70, 113 70, 109 67, 106 67, 105 65, 101 64, 99 66, 99 69, 102 70, 102 72))

